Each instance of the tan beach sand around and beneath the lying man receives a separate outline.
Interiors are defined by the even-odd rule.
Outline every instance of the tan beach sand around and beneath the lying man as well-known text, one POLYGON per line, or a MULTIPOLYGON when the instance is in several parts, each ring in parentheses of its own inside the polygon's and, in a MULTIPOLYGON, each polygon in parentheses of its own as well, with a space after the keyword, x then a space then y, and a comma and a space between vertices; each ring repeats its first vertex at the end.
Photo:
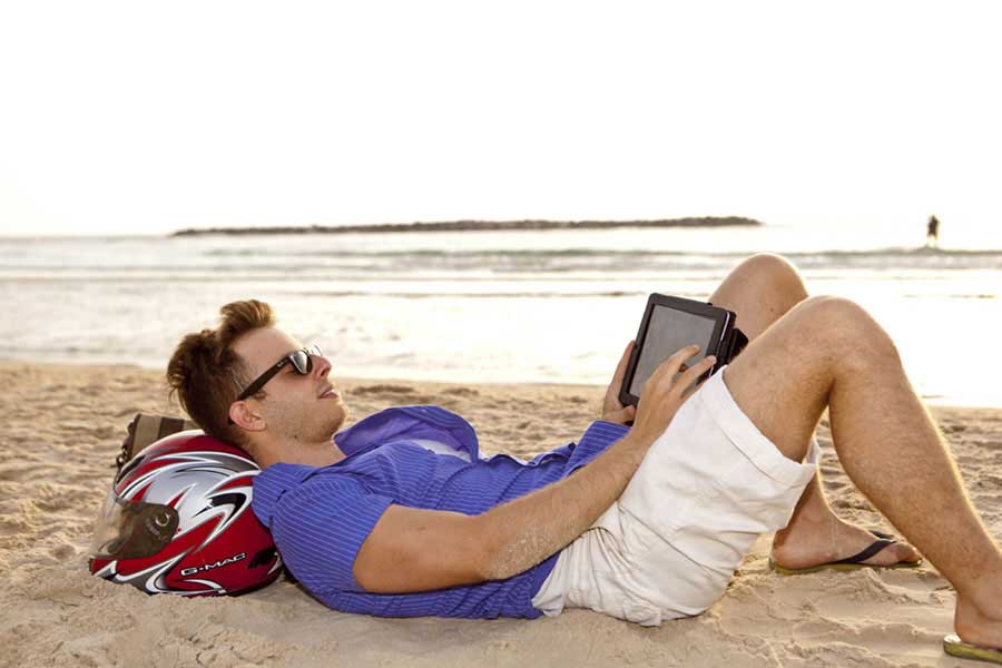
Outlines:
MULTIPOLYGON (((538 620, 377 619, 328 610, 282 579, 236 598, 150 597, 89 574, 94 515, 137 412, 179 414, 161 373, 0 363, 0 666, 964 666, 943 654, 954 592, 917 570, 796 578, 762 537, 706 613, 646 629, 588 610, 538 620)), ((605 387, 336 380, 351 422, 432 403, 466 418, 487 454, 529 458, 577 441, 605 387)), ((1002 536, 1002 410, 932 409, 974 505, 1002 536)), ((835 459, 844 518, 888 529, 835 459)), ((921 493, 921 490, 916 490, 921 493)))

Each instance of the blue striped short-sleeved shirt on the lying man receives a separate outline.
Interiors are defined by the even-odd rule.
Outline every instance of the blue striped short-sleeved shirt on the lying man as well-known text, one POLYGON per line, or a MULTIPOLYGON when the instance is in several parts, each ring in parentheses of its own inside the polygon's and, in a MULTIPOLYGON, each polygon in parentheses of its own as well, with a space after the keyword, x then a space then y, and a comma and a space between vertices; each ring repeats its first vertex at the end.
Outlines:
POLYGON ((412 593, 371 593, 355 581, 363 541, 391 503, 479 514, 557 482, 629 429, 597 421, 579 443, 524 462, 481 459, 469 422, 438 406, 381 411, 334 442, 346 455, 328 466, 273 464, 254 479, 252 507, 299 582, 335 610, 381 617, 525 617, 557 554, 507 580, 412 593))

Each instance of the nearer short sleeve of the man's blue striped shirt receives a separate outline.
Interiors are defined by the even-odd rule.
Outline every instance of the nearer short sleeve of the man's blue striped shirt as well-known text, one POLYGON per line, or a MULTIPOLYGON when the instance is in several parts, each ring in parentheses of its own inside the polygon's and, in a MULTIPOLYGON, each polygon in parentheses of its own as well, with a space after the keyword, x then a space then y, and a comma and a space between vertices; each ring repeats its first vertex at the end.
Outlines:
POLYGON ((365 591, 355 581, 355 559, 391 503, 348 477, 310 480, 278 500, 272 537, 310 591, 365 591))

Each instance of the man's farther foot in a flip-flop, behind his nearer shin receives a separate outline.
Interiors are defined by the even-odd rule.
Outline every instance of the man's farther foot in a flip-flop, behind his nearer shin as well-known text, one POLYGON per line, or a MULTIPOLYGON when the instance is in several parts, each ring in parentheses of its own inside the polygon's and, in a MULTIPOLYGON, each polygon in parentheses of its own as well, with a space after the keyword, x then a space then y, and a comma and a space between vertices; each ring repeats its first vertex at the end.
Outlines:
MULTIPOLYGON (((870 531, 835 515, 817 523, 803 521, 802 518, 802 521, 776 533, 769 557, 774 564, 784 570, 802 571, 858 554, 875 540, 877 537, 870 531)), ((915 548, 905 542, 894 542, 859 563, 894 567, 915 564, 920 560, 915 548)))

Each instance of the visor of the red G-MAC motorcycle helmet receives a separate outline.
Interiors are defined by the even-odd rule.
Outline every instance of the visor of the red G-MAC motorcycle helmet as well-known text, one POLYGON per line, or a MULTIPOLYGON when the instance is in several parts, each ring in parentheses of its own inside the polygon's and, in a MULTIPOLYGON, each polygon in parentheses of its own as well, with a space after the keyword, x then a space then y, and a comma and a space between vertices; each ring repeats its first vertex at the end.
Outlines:
POLYGON ((100 559, 144 559, 174 538, 177 511, 163 503, 128 501, 108 494, 94 528, 90 554, 100 559))

